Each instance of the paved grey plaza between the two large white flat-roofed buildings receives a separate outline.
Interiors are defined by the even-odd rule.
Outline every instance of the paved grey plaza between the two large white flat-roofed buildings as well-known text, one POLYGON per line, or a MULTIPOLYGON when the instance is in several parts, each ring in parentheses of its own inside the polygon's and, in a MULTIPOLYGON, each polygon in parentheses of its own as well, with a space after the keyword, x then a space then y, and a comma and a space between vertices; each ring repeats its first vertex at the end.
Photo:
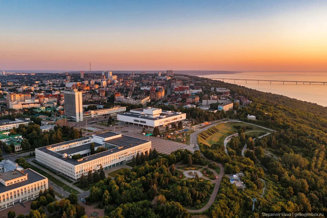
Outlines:
POLYGON ((104 131, 112 131, 116 133, 120 133, 123 135, 127 136, 133 136, 136 138, 141 138, 145 140, 150 140, 152 142, 152 150, 156 149, 158 152, 163 153, 163 154, 170 154, 173 151, 176 151, 178 149, 188 149, 190 151, 194 151, 193 146, 179 143, 179 142, 174 142, 171 140, 165 140, 162 138, 157 138, 153 136, 144 136, 144 135, 139 135, 138 133, 142 132, 143 127, 142 126, 133 126, 132 124, 119 124, 116 126, 112 127, 107 127, 107 126, 102 126, 98 124, 90 124, 88 125, 96 128, 96 131, 93 132, 88 132, 87 134, 84 133, 84 136, 91 136, 92 134, 104 132, 104 131))

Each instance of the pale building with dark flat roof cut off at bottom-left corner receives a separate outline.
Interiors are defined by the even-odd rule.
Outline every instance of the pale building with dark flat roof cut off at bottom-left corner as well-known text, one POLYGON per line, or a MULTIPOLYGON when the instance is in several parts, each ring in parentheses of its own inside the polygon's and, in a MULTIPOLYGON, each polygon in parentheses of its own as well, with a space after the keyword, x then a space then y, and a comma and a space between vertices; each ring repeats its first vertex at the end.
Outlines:
POLYGON ((31 169, 0 173, 0 209, 34 199, 40 190, 48 189, 48 178, 31 169))

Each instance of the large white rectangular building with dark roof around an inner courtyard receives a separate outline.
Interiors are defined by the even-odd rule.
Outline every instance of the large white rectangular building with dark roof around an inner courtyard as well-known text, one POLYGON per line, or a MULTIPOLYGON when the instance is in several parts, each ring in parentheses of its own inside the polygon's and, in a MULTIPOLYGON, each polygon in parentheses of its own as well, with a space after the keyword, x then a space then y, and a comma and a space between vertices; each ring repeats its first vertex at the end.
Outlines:
POLYGON ((35 149, 35 158, 38 162, 63 173, 75 180, 88 171, 95 172, 100 169, 109 169, 132 160, 139 152, 149 152, 151 141, 125 136, 113 132, 103 132, 88 137, 78 138, 66 142, 35 149), (90 145, 105 147, 108 150, 90 155, 90 145), (74 160, 72 156, 80 154, 80 159, 74 160))

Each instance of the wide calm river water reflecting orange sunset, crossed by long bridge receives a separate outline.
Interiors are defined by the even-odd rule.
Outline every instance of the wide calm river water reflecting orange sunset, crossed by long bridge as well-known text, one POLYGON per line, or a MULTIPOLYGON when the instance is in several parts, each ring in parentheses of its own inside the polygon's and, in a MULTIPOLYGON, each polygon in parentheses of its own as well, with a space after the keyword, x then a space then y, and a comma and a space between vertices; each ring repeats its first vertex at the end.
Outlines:
MULTIPOLYGON (((243 72, 235 74, 212 74, 204 75, 207 78, 231 78, 252 80, 283 80, 283 81, 319 81, 327 82, 327 72, 243 72)), ((217 79, 220 80, 220 79, 217 79)), ((234 83, 234 80, 224 80, 234 83)), ((288 83, 288 82, 264 82, 235 80, 235 84, 263 92, 284 95, 290 98, 317 103, 327 107, 327 83, 288 83)))

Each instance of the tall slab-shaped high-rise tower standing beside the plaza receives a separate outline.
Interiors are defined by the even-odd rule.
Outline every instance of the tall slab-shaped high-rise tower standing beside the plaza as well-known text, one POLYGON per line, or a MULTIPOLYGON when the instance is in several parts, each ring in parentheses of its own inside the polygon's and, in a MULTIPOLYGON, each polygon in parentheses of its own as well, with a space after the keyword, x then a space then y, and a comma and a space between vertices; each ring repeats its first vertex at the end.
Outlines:
POLYGON ((74 121, 83 121, 83 100, 82 91, 77 89, 64 90, 65 115, 70 116, 74 121))

